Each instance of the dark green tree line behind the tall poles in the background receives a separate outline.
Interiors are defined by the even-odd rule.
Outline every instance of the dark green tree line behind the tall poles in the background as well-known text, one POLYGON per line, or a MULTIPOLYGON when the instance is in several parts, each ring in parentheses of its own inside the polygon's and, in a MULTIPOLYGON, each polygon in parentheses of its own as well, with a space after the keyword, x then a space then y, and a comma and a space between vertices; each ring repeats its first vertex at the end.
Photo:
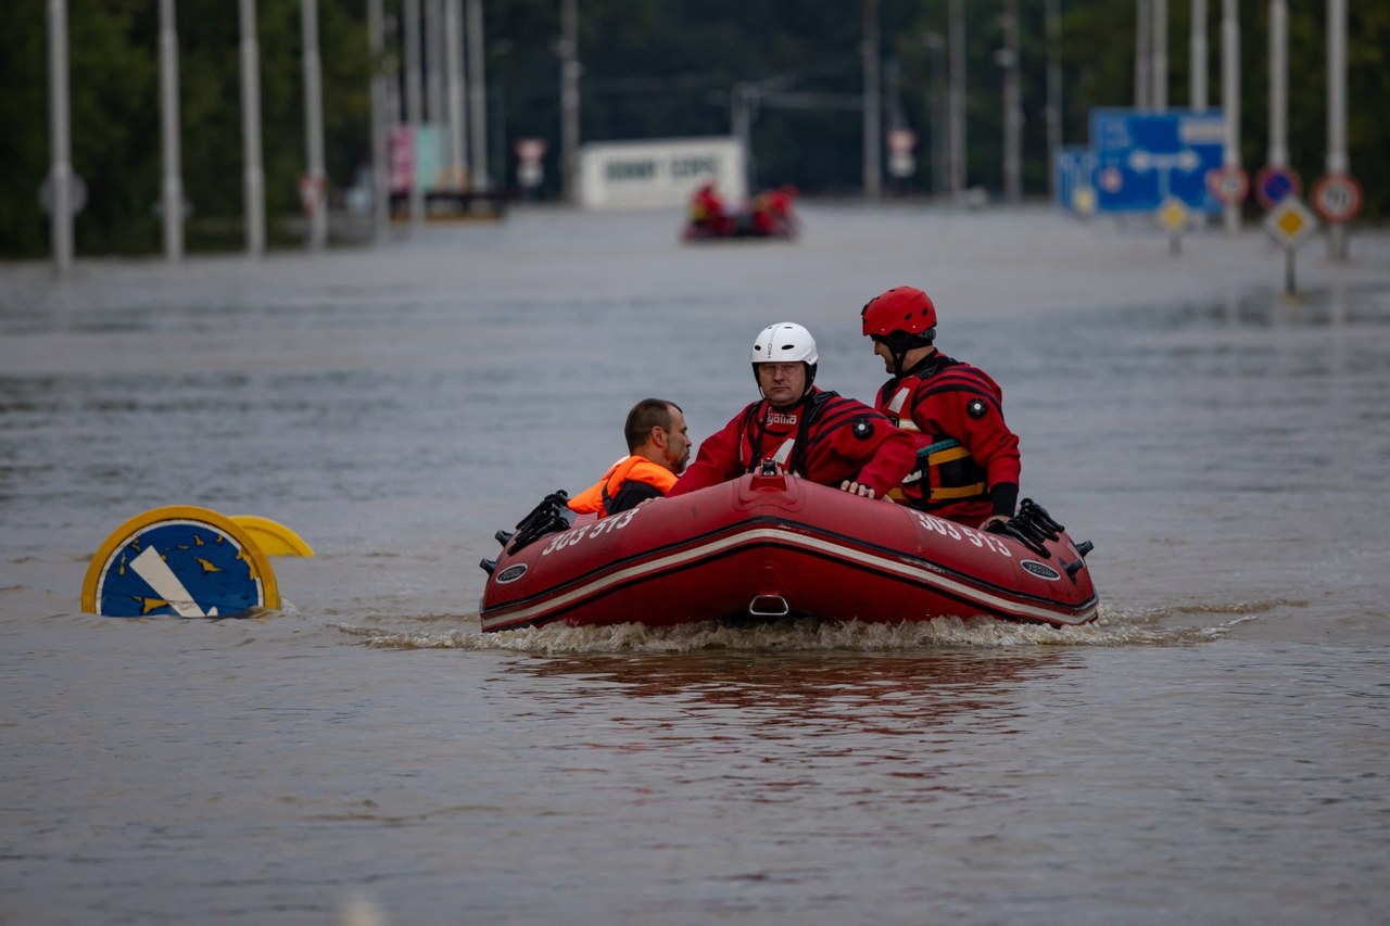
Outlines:
MULTIPOLYGON (((38 190, 49 171, 47 26, 39 0, 0 4, 0 254, 47 252, 38 190)), ((236 3, 178 0, 182 175, 192 213, 192 250, 242 246, 240 57, 236 3)), ((400 0, 385 0, 400 32, 400 0)), ((1084 145, 1093 107, 1134 100, 1134 3, 1062 0, 1062 138, 1084 145)), ((1172 3, 1169 104, 1187 103, 1190 4, 1172 3)), ((1209 99, 1220 104, 1220 4, 1208 6, 1209 99)), ((1268 145, 1268 3, 1241 3, 1241 160, 1254 172, 1268 145)), ((1348 28, 1348 147, 1365 190, 1365 220, 1390 214, 1390 4, 1352 3, 1348 28)), ((916 132, 916 172, 891 195, 922 196, 940 178, 934 163, 941 58, 929 36, 947 33, 947 0, 880 0, 884 111, 916 132)), ((1002 0, 972 0, 967 38, 967 177, 1002 189, 1002 0)), ((1325 4, 1289 11, 1289 154, 1305 186, 1325 172, 1325 4)), ((756 181, 792 184, 806 196, 856 196, 863 178, 863 14, 844 0, 580 0, 580 127, 585 142, 728 135, 734 88, 766 96, 752 113, 756 181), (817 104, 821 103, 821 104, 817 104)), ((299 214, 304 171, 300 1, 257 0, 263 157, 271 243, 286 242, 278 218, 299 214)), ((1023 75, 1023 190, 1049 189, 1045 129, 1048 58, 1042 0, 1019 0, 1023 75)), ((370 76, 400 54, 374 61, 366 0, 318 0, 325 153, 329 185, 354 184, 371 160, 370 76)), ((518 138, 548 142, 542 196, 559 195, 560 0, 484 0, 489 174, 514 178, 518 138)), ((160 249, 158 4, 156 0, 70 0, 72 167, 85 182, 76 250, 160 249)), ((403 93, 402 93, 403 97, 403 93)), ((888 120, 884 125, 888 125, 888 120)))

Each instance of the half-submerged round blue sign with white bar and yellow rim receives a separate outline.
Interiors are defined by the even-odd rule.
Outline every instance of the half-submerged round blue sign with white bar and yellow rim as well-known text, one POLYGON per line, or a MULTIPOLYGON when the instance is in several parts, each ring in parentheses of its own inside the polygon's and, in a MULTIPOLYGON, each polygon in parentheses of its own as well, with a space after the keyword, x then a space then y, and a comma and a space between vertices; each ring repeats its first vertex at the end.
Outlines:
POLYGON ((225 617, 256 608, 279 608, 265 553, 232 519, 190 505, 156 507, 118 527, 82 583, 82 610, 108 617, 225 617))

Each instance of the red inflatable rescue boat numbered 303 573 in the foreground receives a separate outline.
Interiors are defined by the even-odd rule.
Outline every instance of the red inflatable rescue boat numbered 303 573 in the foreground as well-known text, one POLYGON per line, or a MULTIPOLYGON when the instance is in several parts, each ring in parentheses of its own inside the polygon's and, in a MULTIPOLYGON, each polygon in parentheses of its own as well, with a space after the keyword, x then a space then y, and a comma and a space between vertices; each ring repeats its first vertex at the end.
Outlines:
POLYGON ((751 474, 605 517, 555 492, 498 531, 482 560, 484 631, 805 616, 901 623, 988 616, 1052 626, 1095 620, 1086 566, 1024 501, 1004 533, 794 476, 751 474))

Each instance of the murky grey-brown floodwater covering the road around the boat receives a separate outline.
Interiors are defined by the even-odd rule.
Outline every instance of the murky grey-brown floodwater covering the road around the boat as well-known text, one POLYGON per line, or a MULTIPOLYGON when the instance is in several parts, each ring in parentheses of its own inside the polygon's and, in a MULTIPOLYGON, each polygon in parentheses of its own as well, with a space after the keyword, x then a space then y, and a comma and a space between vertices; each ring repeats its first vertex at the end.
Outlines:
POLYGON ((0 268, 0 923, 1383 922, 1390 235, 1289 296, 1258 228, 802 211, 0 268), (493 531, 634 400, 698 441, 783 320, 869 399, 897 284, 1004 385, 1097 624, 480 633, 493 531), (161 505, 317 555, 254 619, 81 613, 161 505))

